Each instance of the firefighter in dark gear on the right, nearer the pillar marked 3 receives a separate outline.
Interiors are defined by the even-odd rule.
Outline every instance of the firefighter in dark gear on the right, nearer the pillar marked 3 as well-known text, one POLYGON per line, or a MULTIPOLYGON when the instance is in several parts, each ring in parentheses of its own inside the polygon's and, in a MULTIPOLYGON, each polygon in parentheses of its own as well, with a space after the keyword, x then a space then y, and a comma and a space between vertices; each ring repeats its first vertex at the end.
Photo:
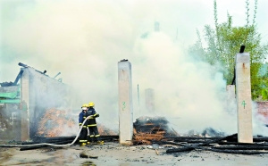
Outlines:
POLYGON ((88 116, 91 116, 88 119, 88 130, 89 130, 89 136, 88 136, 88 144, 91 142, 97 142, 98 144, 104 144, 103 141, 99 141, 99 133, 96 127, 96 118, 99 117, 99 114, 96 113, 95 104, 93 102, 89 102, 88 104, 88 116))

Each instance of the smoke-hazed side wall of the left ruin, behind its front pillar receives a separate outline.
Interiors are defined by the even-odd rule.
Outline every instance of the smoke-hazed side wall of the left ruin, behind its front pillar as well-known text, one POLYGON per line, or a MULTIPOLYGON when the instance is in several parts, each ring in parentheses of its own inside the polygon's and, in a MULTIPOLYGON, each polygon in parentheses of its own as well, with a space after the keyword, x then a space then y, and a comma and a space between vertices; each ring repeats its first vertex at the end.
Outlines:
POLYGON ((71 108, 71 88, 56 79, 47 77, 32 68, 24 68, 21 79, 22 103, 27 105, 29 113, 29 137, 32 138, 38 131, 38 122, 46 110, 51 108, 71 108), (28 78, 29 76, 29 78, 28 78), (24 84, 26 82, 26 85, 24 84), (27 89, 29 82, 29 89, 27 89), (29 96, 27 96, 29 93, 29 96), (24 97, 25 96, 25 97, 24 97))

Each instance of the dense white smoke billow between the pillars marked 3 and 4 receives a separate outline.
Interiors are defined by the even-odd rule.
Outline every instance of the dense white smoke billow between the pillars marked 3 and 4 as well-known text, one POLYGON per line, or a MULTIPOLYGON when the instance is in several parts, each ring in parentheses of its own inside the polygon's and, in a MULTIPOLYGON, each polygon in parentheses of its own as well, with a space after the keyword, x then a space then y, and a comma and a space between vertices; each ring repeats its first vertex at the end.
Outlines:
POLYGON ((161 32, 140 38, 138 43, 142 61, 134 66, 134 80, 144 89, 155 89, 155 112, 141 113, 165 116, 181 132, 209 127, 235 132, 236 117, 224 108, 226 83, 221 72, 183 54, 180 45, 161 32))

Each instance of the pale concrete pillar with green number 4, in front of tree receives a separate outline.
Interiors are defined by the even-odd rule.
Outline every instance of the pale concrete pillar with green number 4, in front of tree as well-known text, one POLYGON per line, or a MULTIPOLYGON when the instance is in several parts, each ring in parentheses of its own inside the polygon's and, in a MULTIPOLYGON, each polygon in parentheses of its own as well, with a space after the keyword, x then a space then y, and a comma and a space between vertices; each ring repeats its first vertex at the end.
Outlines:
POLYGON ((250 56, 248 53, 236 55, 236 92, 239 143, 253 143, 250 56))

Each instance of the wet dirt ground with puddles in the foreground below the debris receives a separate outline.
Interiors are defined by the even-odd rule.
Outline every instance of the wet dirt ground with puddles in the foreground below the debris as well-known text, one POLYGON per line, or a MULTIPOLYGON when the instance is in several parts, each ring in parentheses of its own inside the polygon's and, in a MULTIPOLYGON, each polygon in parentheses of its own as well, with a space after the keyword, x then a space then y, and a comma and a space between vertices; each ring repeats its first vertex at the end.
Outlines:
POLYGON ((0 147, 0 165, 268 165, 268 154, 222 154, 195 150, 166 154, 171 146, 151 145, 71 145, 20 151, 20 148, 0 147), (88 158, 81 158, 80 154, 88 158))

